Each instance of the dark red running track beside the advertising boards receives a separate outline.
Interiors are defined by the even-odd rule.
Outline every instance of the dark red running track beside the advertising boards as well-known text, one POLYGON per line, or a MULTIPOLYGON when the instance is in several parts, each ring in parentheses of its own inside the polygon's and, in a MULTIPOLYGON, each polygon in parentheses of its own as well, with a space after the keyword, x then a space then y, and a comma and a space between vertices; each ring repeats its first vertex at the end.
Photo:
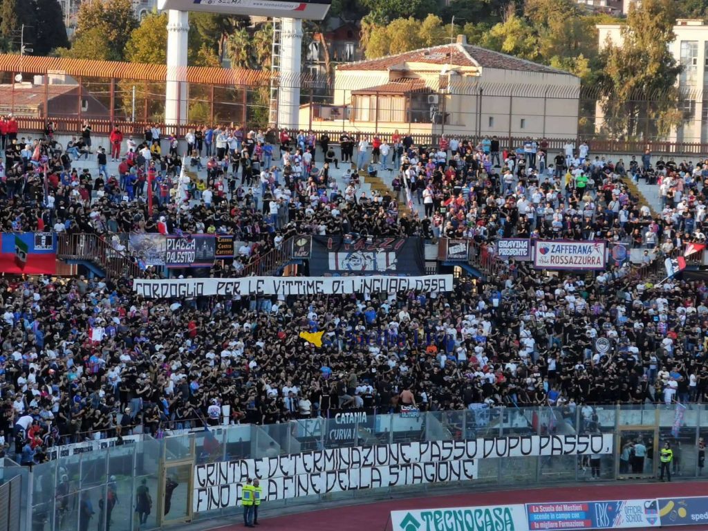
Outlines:
MULTIPOLYGON (((553 501, 603 501, 632 498, 670 498, 708 496, 708 482, 597 484, 564 486, 554 489, 525 491, 469 492, 445 496, 428 496, 407 500, 381 501, 358 506, 311 510, 306 513, 262 520, 261 531, 384 531, 392 510, 506 505, 553 501)), ((219 527, 219 531, 244 529, 242 523, 219 527)), ((708 531, 708 525, 683 525, 677 531, 708 531)))

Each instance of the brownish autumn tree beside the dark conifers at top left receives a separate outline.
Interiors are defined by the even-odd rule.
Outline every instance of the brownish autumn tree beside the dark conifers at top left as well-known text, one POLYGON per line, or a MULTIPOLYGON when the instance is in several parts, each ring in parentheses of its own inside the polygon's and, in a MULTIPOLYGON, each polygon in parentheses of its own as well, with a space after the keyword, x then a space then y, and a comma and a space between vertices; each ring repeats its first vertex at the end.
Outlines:
MULTIPOLYGON (((101 0, 84 2, 79 8, 79 17, 76 22, 76 41, 84 38, 84 34, 97 28, 107 41, 111 59, 123 59, 125 45, 139 22, 135 18, 130 0, 101 0)), ((93 33, 96 35, 96 33, 93 33)), ((82 44, 81 49, 89 47, 82 44)), ((76 57, 76 53, 73 54, 76 57)), ((83 59, 96 59, 93 55, 82 56, 83 59)))

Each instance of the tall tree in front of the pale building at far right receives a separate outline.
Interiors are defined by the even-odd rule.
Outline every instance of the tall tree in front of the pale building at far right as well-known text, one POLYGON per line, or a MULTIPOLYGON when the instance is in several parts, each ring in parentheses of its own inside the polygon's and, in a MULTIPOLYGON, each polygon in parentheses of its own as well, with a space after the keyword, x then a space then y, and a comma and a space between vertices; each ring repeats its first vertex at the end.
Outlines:
POLYGON ((629 11, 622 42, 603 50, 600 89, 608 132, 646 139, 683 122, 675 86, 681 67, 668 50, 674 23, 673 0, 644 0, 629 11))

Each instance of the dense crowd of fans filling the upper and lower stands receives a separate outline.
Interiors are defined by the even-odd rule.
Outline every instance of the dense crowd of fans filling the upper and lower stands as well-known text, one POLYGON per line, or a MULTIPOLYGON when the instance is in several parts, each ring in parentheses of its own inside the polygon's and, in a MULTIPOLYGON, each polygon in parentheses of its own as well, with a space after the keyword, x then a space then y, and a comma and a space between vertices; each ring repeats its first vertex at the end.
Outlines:
MULTIPOLYGON (((544 139, 501 150, 496 138, 416 146, 406 135, 343 135, 336 153, 326 136, 233 127, 190 131, 181 158, 178 139, 149 127, 135 140, 111 133, 114 176, 89 124, 80 135, 62 147, 47 127, 6 143, 3 232, 234 234, 243 250, 213 276, 238 275, 294 234, 607 239, 652 256, 704 240, 705 163, 625 167, 584 143, 552 154, 544 139), (76 171, 79 156, 95 156, 98 173, 76 171), (367 197, 356 169, 331 169, 340 161, 364 179, 391 172, 392 192, 367 197), (639 206, 631 178, 668 186, 663 212, 639 206)), ((657 280, 627 263, 547 276, 498 260, 484 282, 458 278, 447 293, 144 300, 127 278, 1 278, 0 452, 31 464, 52 445, 159 436, 222 411, 277 423, 348 407, 706 401, 708 287, 657 280), (300 331, 324 332, 323 345, 300 331)))

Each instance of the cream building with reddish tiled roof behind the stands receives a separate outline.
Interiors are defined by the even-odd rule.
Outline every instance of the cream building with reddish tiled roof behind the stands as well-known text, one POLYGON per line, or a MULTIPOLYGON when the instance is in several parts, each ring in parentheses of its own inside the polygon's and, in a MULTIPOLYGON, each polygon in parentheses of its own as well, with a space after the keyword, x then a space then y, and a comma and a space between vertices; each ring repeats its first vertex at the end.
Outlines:
POLYGON ((580 79, 457 42, 341 64, 333 105, 304 106, 313 129, 569 138, 580 79))

